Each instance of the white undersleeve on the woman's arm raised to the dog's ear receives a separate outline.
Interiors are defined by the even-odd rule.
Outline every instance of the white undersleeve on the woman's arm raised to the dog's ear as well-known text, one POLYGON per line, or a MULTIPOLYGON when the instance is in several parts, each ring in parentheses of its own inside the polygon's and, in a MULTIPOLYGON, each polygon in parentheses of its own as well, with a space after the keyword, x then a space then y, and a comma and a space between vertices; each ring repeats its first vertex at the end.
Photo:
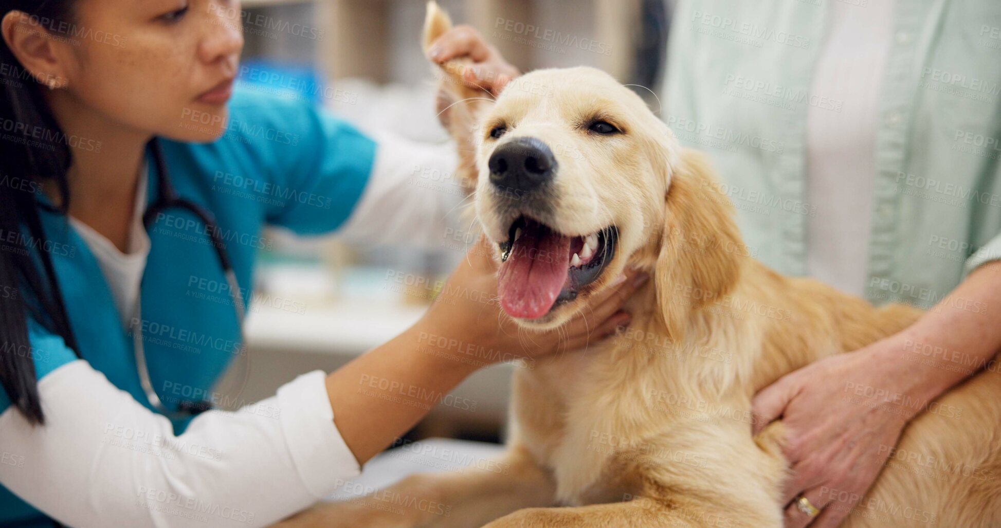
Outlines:
POLYGON ((461 218, 468 212, 463 206, 471 200, 464 199, 455 174, 455 145, 421 144, 390 134, 376 139, 372 173, 338 234, 350 241, 424 248, 462 238, 461 218))

